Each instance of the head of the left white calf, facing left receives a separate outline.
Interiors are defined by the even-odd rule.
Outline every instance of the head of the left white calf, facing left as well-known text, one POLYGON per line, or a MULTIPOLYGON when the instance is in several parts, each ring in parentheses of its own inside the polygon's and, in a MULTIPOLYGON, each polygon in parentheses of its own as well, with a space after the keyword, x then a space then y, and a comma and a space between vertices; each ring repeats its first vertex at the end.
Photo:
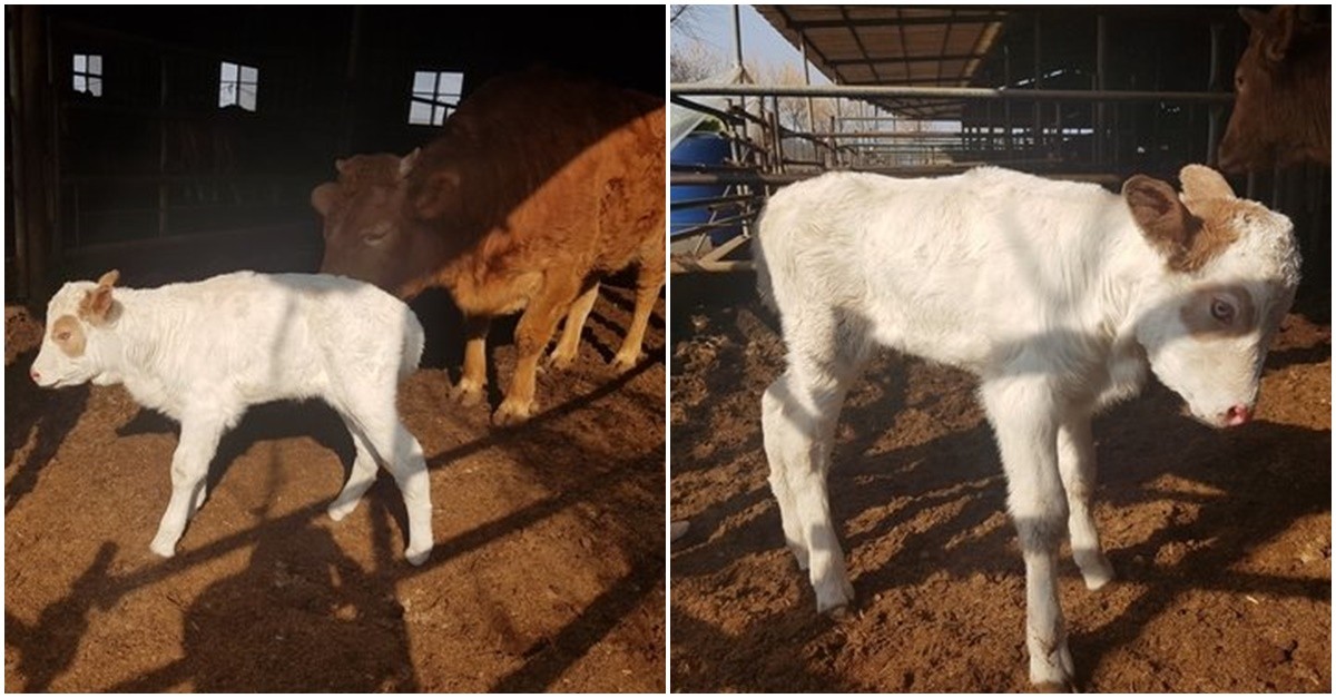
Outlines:
POLYGON ((32 362, 32 380, 43 388, 64 388, 96 380, 104 370, 103 336, 119 316, 111 287, 120 277, 107 271, 98 279, 61 286, 47 305, 47 330, 32 362))

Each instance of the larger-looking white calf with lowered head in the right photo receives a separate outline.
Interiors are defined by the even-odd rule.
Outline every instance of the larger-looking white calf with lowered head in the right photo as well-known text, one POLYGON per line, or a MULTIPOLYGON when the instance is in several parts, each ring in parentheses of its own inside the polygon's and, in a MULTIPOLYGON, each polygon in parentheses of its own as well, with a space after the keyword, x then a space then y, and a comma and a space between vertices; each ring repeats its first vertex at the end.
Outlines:
POLYGON ((819 611, 854 598, 827 503, 831 435, 874 346, 891 346, 981 378, 1025 558, 1030 681, 1070 682, 1063 530, 1089 588, 1113 576, 1090 515, 1092 415, 1149 365, 1198 420, 1246 423, 1299 283, 1288 218, 1206 167, 1180 178, 1181 195, 1137 175, 1118 197, 997 168, 838 172, 770 201, 756 259, 788 369, 762 397, 766 455, 819 611))

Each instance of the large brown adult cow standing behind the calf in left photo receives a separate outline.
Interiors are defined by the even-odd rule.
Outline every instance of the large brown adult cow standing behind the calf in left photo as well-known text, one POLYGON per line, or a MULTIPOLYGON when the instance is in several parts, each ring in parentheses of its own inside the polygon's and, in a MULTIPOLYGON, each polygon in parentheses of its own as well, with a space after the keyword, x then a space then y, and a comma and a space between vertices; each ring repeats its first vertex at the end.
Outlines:
POLYGON ((405 158, 358 155, 311 203, 325 217, 321 270, 402 297, 450 292, 468 333, 454 397, 477 402, 486 384, 492 317, 524 310, 518 361, 496 424, 528 419, 542 350, 574 358, 599 277, 639 265, 636 308, 615 365, 640 358, 664 283, 663 100, 529 71, 482 86, 442 134, 405 158))

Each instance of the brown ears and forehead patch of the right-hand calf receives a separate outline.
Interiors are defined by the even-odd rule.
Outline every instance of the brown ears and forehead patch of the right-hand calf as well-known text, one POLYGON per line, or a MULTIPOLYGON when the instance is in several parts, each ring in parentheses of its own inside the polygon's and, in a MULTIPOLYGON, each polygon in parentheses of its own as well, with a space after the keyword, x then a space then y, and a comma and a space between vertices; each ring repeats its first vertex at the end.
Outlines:
POLYGON ((1204 267, 1236 239, 1230 222, 1240 207, 1220 174, 1189 164, 1180 174, 1182 201, 1168 182, 1136 175, 1122 186, 1122 198, 1141 233, 1165 258, 1170 270, 1186 274, 1204 267))

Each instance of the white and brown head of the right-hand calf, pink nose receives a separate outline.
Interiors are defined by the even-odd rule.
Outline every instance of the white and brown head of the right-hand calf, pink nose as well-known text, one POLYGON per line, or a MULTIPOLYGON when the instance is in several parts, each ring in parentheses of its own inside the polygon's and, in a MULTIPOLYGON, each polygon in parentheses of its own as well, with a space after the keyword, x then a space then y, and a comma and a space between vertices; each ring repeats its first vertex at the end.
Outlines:
POLYGON ((1137 341, 1156 377, 1212 427, 1246 423, 1263 361, 1299 286, 1289 218, 1234 197, 1209 167, 1180 172, 1182 194, 1145 175, 1122 197, 1164 266, 1141 298, 1137 341))

